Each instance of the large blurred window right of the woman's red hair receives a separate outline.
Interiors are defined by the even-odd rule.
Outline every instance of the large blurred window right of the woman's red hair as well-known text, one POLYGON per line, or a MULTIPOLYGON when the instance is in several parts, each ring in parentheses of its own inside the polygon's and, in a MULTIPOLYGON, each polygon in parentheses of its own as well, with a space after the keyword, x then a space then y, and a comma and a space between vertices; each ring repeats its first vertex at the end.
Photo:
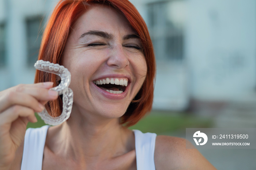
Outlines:
POLYGON ((147 4, 148 29, 157 60, 181 61, 184 51, 185 1, 147 4))

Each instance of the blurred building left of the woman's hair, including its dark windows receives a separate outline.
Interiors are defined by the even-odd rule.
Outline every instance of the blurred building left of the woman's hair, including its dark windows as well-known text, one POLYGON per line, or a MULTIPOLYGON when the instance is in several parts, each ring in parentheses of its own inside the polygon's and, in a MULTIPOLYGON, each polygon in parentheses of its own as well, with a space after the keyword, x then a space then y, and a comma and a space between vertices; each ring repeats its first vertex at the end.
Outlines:
POLYGON ((0 90, 34 82, 42 28, 54 0, 0 0, 0 90))

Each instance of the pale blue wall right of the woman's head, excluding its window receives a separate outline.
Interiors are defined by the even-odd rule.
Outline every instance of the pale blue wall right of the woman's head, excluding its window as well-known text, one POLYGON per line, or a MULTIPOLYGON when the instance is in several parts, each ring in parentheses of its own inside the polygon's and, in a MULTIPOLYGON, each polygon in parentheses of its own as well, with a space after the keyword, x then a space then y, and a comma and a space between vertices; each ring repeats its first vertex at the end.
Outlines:
MULTIPOLYGON (((147 22, 146 3, 132 0, 147 22)), ((256 100, 256 1, 186 0, 185 61, 158 61, 154 108, 182 109, 189 98, 256 100)))

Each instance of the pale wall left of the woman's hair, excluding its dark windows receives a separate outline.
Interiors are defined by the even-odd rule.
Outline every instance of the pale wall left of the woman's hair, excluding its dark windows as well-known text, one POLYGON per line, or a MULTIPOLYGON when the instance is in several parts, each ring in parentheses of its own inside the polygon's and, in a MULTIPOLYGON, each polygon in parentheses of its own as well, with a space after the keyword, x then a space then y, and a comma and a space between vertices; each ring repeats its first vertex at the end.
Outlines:
POLYGON ((7 65, 0 68, 0 90, 34 82, 35 69, 26 63, 26 18, 40 15, 47 20, 55 4, 56 0, 6 0, 4 6, 0 5, 5 9, 0 19, 6 23, 7 39, 7 65))

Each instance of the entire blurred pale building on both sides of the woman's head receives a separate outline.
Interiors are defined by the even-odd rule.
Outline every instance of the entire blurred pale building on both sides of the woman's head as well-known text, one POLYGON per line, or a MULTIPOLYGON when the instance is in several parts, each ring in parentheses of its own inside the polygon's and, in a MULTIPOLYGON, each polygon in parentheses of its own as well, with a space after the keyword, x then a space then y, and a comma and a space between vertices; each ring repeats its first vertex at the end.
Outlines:
MULTIPOLYGON (((131 0, 157 58, 154 108, 256 101, 255 0, 131 0)), ((0 0, 0 90, 33 83, 44 24, 57 0, 0 0)))

